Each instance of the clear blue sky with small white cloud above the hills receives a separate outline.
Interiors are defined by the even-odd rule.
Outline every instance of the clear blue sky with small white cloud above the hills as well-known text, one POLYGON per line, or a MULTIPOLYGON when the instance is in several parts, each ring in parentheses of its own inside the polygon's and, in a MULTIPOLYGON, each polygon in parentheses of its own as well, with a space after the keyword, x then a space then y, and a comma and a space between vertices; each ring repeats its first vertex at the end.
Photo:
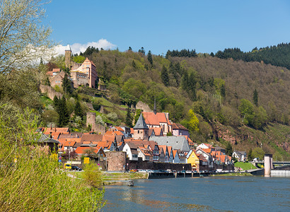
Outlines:
POLYGON ((52 0, 45 5, 52 40, 125 51, 144 47, 153 54, 170 49, 244 52, 290 42, 290 1, 255 0, 52 0))

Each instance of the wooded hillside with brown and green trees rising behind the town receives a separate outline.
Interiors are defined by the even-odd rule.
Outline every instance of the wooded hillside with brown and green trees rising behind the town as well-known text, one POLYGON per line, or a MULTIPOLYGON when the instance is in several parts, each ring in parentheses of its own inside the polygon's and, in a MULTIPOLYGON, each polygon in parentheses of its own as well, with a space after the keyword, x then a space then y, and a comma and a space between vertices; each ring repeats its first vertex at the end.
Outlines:
MULTIPOLYGON (((153 108, 156 98, 158 111, 169 112, 173 122, 190 129, 197 143, 226 146, 230 141, 233 147, 246 151, 262 143, 265 151, 279 150, 284 157, 289 156, 288 69, 263 62, 219 59, 195 54, 194 50, 183 51, 185 57, 170 56, 178 56, 178 51, 166 58, 145 53, 144 49, 119 52, 89 47, 73 59, 81 62, 88 57, 94 62, 100 81, 110 93, 110 102, 134 105, 141 100, 153 108), (284 124, 285 136, 272 141, 269 126, 275 128, 277 123, 284 124), (265 131, 267 138, 262 136, 265 131)), ((125 122, 124 114, 118 118, 125 122)))

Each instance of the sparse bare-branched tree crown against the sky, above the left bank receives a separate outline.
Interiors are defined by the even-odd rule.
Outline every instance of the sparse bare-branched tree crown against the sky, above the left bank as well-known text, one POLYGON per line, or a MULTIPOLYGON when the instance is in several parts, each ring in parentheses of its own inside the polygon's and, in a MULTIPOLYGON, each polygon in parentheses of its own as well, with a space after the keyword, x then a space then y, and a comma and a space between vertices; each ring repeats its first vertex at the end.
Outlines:
POLYGON ((40 25, 45 17, 42 3, 42 0, 0 1, 0 73, 28 66, 32 61, 36 63, 45 53, 50 57, 47 39, 51 30, 40 25))

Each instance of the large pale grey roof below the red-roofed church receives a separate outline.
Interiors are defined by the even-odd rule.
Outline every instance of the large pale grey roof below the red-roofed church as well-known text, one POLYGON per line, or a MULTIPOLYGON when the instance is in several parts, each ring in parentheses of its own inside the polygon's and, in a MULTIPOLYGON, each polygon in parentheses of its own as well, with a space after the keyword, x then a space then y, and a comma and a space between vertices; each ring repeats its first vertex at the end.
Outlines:
POLYGON ((158 145, 172 146, 182 152, 190 151, 190 146, 184 136, 152 136, 149 141, 156 141, 158 145))

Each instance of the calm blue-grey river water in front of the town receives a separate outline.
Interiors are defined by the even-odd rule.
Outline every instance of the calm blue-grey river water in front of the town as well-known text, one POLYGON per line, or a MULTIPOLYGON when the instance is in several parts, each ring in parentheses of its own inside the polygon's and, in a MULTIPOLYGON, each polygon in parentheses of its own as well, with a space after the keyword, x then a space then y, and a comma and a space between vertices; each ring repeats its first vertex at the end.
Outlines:
POLYGON ((290 178, 138 179, 105 187, 102 211, 290 211, 290 178))

